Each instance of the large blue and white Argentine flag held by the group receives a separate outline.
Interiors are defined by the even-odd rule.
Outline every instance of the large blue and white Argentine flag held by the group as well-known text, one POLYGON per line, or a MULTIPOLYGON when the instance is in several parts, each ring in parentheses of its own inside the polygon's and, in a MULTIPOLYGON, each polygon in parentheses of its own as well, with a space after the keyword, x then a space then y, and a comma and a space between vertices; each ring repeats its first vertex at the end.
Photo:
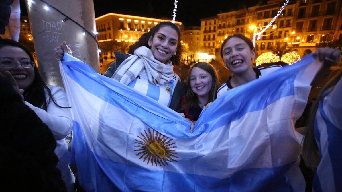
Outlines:
POLYGON ((87 191, 304 191, 295 120, 321 63, 307 56, 228 91, 190 124, 64 54, 73 155, 87 191))

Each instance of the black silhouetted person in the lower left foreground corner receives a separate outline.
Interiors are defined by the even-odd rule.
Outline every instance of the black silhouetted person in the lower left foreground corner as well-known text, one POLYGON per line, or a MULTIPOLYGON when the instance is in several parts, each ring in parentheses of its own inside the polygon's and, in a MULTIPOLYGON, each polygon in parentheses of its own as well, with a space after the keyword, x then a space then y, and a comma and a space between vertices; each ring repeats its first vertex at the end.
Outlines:
POLYGON ((13 81, 10 74, 9 77, 0 74, 1 188, 3 191, 64 192, 66 186, 56 167, 54 136, 25 105, 19 88, 13 88, 13 81))

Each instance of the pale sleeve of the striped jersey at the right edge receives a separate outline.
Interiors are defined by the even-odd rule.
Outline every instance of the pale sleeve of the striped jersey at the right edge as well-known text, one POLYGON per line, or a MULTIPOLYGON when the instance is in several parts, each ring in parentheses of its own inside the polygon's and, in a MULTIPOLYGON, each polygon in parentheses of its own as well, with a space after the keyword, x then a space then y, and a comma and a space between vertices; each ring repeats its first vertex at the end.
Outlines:
POLYGON ((324 112, 329 120, 337 127, 342 125, 342 79, 335 85, 334 90, 324 98, 324 112))

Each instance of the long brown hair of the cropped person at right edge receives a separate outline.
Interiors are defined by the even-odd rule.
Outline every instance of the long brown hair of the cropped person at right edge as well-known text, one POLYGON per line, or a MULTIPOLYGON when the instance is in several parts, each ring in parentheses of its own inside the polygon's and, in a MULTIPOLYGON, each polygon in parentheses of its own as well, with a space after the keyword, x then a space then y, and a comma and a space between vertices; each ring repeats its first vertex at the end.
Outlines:
POLYGON ((316 113, 319 107, 319 101, 321 99, 324 99, 324 97, 326 97, 332 92, 332 90, 334 89, 334 86, 339 82, 341 77, 342 77, 342 70, 339 70, 321 89, 321 91, 319 92, 317 96, 316 101, 311 107, 310 116, 306 124, 305 137, 302 140, 302 143, 303 143, 302 156, 303 156, 305 165, 308 168, 313 169, 313 170, 317 169, 317 166, 320 162, 319 150, 317 147, 315 133, 314 133, 314 124, 315 124, 316 113))

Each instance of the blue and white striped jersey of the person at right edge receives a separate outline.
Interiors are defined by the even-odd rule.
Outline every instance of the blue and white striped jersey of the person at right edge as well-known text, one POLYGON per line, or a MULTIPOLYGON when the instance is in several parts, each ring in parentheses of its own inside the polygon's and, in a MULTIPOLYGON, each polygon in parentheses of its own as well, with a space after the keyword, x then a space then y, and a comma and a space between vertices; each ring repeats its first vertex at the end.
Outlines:
POLYGON ((313 191, 342 191, 342 80, 319 102, 315 137, 321 161, 313 180, 313 191))

